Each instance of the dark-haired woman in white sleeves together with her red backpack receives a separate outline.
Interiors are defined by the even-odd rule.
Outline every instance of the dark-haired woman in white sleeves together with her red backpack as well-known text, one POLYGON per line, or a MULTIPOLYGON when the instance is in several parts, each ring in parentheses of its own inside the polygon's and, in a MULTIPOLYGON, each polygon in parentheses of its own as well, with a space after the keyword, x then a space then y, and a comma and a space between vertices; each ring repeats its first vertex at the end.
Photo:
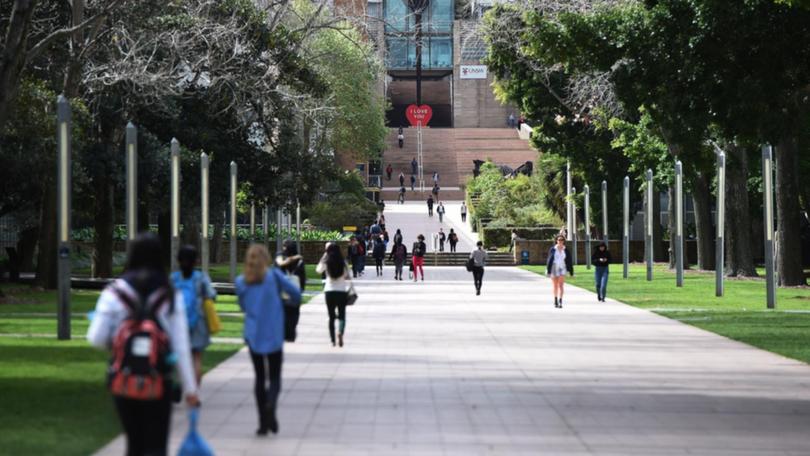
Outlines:
POLYGON ((154 234, 132 241, 124 274, 99 296, 87 330, 92 345, 112 349, 108 383, 132 455, 166 454, 175 367, 186 403, 200 404, 183 295, 169 282, 163 252, 154 234))

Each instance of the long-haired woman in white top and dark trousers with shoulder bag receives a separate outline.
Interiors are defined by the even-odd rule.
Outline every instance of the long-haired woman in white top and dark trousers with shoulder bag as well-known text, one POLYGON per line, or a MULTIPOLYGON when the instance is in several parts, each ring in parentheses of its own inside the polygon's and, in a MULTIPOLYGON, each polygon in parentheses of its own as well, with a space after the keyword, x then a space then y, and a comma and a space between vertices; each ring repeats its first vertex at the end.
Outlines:
POLYGON ((335 346, 335 320, 338 320, 338 345, 343 346, 343 333, 346 330, 346 302, 351 279, 346 269, 346 262, 337 244, 326 244, 326 252, 315 267, 318 274, 326 274, 323 291, 326 298, 326 310, 329 313, 329 339, 335 346))

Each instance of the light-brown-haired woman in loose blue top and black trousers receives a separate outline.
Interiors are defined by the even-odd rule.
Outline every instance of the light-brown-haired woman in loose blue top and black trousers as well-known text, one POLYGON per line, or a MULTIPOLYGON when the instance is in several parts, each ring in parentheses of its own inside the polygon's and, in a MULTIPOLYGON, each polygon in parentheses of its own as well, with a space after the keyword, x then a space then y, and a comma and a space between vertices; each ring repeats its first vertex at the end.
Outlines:
POLYGON ((281 392, 281 363, 284 346, 284 305, 301 302, 301 290, 278 268, 268 269, 270 253, 262 244, 253 244, 245 255, 245 272, 236 278, 239 307, 245 312, 244 337, 256 373, 256 406, 259 411, 258 435, 278 432, 276 403, 281 392))

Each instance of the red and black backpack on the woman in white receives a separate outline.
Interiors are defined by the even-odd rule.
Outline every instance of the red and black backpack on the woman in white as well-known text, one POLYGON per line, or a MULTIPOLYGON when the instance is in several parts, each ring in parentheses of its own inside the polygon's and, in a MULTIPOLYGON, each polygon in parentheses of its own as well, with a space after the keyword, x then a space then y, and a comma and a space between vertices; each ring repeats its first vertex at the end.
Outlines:
POLYGON ((169 287, 154 291, 148 298, 132 296, 120 286, 113 291, 129 310, 129 315, 113 337, 112 359, 107 382, 113 395, 137 400, 158 400, 166 394, 166 376, 171 372, 167 358, 169 337, 157 320, 158 311, 169 305, 174 310, 169 287))

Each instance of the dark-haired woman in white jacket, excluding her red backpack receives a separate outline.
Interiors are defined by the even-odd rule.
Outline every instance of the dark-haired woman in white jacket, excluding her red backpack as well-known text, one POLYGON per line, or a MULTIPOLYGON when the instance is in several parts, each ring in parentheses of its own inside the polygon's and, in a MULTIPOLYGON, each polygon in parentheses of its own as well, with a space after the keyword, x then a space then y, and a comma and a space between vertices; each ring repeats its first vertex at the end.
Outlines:
MULTIPOLYGON (((114 338, 130 314, 124 299, 147 303, 150 309, 157 309, 155 320, 169 340, 171 354, 167 359, 175 360, 186 403, 199 406, 183 295, 171 287, 163 265, 160 240, 152 234, 141 235, 132 242, 123 276, 99 296, 87 330, 87 340, 92 345, 113 348, 114 338)), ((135 343, 132 345, 134 347, 135 343)), ((131 349, 133 353, 135 350, 131 349)), ((127 454, 166 454, 172 410, 172 384, 168 375, 164 377, 162 391, 159 397, 149 400, 114 394, 115 407, 127 435, 127 454)))

